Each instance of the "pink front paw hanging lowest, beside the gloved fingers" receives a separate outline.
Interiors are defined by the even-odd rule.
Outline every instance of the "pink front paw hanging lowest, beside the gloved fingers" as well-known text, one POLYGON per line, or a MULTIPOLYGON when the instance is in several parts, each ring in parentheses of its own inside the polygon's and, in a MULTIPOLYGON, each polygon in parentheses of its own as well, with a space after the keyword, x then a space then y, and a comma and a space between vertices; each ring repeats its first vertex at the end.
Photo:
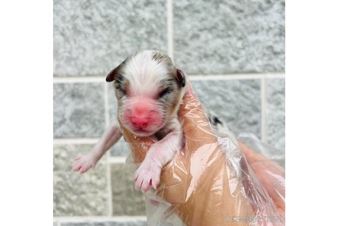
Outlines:
POLYGON ((147 192, 151 187, 158 187, 160 183, 161 167, 152 161, 143 161, 134 174, 135 189, 147 192))

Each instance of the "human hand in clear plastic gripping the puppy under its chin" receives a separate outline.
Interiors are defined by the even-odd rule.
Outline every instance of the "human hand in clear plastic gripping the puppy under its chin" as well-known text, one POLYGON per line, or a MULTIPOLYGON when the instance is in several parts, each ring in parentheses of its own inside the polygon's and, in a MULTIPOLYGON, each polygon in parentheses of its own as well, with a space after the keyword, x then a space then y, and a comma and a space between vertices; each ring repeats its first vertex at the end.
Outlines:
MULTIPOLYGON (((225 151, 212 132, 201 103, 192 86, 183 97, 178 117, 183 126, 185 147, 161 170, 157 196, 172 204, 172 211, 186 225, 247 225, 227 223, 229 216, 253 215, 244 196, 232 196, 225 151)), ((136 137, 121 124, 125 141, 130 144, 134 163, 142 163, 156 142, 152 137, 136 137)), ((240 182, 239 182, 240 183, 240 182)))

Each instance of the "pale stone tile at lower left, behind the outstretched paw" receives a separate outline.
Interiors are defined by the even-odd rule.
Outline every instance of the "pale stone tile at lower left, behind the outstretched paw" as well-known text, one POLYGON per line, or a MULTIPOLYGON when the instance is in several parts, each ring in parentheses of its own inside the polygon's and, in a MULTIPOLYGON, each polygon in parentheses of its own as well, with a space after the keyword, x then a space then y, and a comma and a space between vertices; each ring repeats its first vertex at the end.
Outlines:
POLYGON ((102 216, 108 214, 105 160, 85 174, 72 171, 77 156, 87 154, 93 145, 54 145, 54 216, 102 216))

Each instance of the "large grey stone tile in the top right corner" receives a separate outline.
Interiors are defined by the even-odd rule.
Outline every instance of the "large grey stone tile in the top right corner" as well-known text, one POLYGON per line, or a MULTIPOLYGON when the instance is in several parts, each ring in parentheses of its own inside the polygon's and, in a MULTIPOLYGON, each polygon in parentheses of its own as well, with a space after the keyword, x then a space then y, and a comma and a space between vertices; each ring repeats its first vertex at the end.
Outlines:
POLYGON ((174 61, 187 74, 285 71, 285 1, 174 1, 174 61))

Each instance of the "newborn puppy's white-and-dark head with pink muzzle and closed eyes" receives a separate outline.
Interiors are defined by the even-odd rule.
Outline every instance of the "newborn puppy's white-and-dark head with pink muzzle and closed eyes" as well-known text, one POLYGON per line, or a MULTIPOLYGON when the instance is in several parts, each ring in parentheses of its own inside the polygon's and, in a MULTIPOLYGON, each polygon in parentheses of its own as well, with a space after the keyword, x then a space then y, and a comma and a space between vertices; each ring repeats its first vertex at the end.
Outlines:
POLYGON ((128 56, 106 81, 114 81, 119 121, 137 136, 156 133, 176 116, 186 88, 170 57, 151 50, 128 56))

